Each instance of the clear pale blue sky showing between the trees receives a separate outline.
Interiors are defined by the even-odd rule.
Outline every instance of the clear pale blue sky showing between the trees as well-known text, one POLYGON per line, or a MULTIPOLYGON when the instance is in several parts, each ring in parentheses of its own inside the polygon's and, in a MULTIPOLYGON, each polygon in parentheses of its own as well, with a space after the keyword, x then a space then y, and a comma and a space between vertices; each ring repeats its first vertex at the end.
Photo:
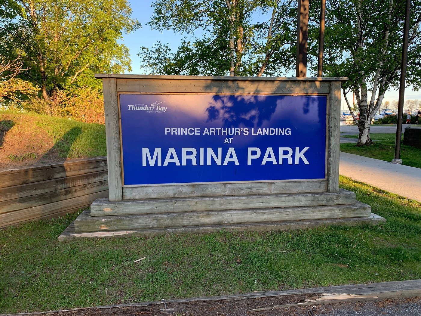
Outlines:
MULTIPOLYGON (((150 48, 157 40, 160 40, 163 44, 168 44, 172 50, 175 50, 181 43, 183 35, 175 34, 169 31, 160 33, 156 30, 152 30, 148 25, 146 25, 153 13, 153 9, 151 7, 153 3, 152 0, 132 0, 129 2, 131 3, 131 7, 133 9, 132 17, 137 19, 142 24, 142 28, 131 34, 123 35, 123 43, 130 49, 132 60, 131 73, 142 74, 145 73, 145 70, 140 69, 140 57, 137 56, 141 46, 150 48)), ((393 100, 397 100, 398 96, 399 91, 397 90, 387 91, 384 97, 384 101, 392 102, 393 100)), ((421 93, 419 91, 413 91, 411 88, 406 88, 405 100, 406 99, 421 99, 421 93)), ((342 108, 346 108, 346 105, 344 104, 342 108)))

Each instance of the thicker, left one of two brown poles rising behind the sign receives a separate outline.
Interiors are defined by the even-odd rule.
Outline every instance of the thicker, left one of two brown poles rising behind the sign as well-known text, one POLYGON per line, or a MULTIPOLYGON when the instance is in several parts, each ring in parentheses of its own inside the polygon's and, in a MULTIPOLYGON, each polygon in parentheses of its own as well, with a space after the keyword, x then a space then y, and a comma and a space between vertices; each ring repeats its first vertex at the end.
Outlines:
POLYGON ((296 77, 307 76, 307 42, 309 38, 309 0, 298 0, 296 77))

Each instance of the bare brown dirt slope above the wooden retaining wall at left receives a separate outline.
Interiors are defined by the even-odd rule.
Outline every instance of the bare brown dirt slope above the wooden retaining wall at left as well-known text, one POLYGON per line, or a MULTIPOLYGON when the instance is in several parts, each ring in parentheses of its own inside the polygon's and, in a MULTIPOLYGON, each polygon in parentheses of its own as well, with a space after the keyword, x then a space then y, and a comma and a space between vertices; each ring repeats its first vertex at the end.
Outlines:
POLYGON ((53 137, 26 115, 0 118, 0 170, 65 161, 53 147, 53 137))

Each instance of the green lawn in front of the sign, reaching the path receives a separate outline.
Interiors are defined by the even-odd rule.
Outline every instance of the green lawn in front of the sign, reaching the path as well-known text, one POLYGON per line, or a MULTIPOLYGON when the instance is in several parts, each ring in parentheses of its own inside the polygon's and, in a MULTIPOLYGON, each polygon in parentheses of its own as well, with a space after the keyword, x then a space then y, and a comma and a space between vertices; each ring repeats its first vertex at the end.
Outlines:
POLYGON ((59 242, 73 214, 0 230, 0 311, 420 279, 421 204, 340 181, 386 224, 59 242))

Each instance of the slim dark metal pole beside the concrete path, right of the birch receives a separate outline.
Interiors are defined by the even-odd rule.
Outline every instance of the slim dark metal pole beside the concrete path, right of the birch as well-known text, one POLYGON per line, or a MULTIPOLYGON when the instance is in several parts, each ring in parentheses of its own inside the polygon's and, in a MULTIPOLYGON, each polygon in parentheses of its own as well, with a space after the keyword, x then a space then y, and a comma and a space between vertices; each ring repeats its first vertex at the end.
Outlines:
POLYGON ((406 0, 405 10, 405 24, 403 30, 403 46, 402 46, 402 64, 400 68, 400 83, 399 83, 399 101, 397 109, 397 124, 396 124, 396 140, 395 140, 395 157, 392 163, 402 163, 400 159, 400 140, 402 138, 402 114, 403 114, 403 99, 405 95, 405 77, 406 77, 406 62, 408 56, 408 34, 410 22, 411 0, 406 0))

